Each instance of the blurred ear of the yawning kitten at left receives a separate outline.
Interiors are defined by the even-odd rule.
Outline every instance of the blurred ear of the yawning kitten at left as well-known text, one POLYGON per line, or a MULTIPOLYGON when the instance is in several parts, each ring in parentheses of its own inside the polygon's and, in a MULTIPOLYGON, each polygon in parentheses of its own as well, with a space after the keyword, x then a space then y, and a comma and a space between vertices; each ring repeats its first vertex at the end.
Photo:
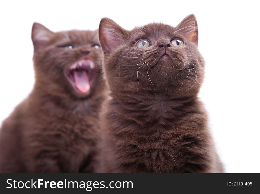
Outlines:
POLYGON ((44 43, 46 43, 54 32, 39 23, 32 25, 32 43, 34 50, 38 50, 44 43))

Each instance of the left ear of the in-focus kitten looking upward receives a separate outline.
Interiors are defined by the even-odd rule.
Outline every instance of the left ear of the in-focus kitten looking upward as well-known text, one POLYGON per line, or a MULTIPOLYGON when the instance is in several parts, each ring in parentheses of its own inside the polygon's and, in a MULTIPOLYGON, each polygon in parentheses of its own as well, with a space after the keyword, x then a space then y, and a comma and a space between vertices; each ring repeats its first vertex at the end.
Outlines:
POLYGON ((104 53, 111 53, 127 35, 127 30, 109 18, 102 18, 99 24, 99 41, 104 53))

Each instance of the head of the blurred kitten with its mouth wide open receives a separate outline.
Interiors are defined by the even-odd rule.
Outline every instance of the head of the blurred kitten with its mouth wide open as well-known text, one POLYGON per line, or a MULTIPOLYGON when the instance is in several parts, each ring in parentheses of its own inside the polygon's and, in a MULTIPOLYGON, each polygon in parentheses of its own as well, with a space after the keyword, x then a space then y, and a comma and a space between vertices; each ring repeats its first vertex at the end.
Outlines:
POLYGON ((101 87, 103 52, 97 31, 52 32, 32 26, 35 85, 61 97, 89 97, 101 87))

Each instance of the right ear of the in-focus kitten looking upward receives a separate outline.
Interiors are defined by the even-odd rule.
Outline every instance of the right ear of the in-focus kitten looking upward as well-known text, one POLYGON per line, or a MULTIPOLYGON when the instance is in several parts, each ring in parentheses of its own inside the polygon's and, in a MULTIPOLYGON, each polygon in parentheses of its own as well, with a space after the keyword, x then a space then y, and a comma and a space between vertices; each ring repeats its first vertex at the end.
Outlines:
POLYGON ((189 42, 193 42, 198 45, 198 24, 194 14, 185 17, 181 23, 176 26, 176 29, 185 33, 189 42))

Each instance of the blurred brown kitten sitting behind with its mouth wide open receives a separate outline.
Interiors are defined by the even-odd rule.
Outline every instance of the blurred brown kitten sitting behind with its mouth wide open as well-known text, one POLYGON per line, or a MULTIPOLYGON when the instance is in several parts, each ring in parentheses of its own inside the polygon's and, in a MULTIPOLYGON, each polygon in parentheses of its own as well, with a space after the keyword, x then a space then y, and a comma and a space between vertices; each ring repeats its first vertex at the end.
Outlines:
POLYGON ((95 172, 104 96, 97 31, 32 27, 35 85, 0 133, 0 172, 95 172))

